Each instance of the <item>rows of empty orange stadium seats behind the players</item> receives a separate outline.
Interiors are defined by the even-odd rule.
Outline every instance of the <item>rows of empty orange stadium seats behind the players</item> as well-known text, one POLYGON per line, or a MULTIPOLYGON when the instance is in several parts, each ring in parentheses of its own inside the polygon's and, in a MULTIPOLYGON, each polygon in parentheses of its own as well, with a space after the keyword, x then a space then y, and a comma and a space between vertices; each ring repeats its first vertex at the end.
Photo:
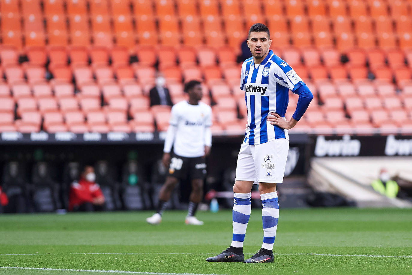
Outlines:
POLYGON ((213 133, 232 131, 246 113, 237 55, 258 21, 315 95, 301 131, 412 123, 406 0, 0 0, 0 13, 0 131, 164 131, 170 108, 147 96, 157 72, 175 103, 201 80, 213 133))

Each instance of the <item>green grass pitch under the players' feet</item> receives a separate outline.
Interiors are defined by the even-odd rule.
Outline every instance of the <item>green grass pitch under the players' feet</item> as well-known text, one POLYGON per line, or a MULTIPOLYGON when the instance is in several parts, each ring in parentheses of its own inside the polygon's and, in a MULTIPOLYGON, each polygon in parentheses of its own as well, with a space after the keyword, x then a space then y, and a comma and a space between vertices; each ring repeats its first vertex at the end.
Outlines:
MULTIPOLYGON (((281 208, 275 262, 262 264, 206 262, 232 240, 229 210, 199 212, 204 226, 183 211, 151 226, 151 214, 0 215, 0 274, 412 274, 411 209, 281 208)), ((262 238, 253 209, 245 258, 262 238)))

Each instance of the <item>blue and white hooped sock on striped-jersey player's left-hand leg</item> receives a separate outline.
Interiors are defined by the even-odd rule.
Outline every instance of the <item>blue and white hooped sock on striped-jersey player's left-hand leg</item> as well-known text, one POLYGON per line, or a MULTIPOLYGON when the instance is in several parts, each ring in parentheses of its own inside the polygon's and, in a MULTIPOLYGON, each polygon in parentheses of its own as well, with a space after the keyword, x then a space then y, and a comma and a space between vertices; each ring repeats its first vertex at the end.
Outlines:
POLYGON ((252 193, 234 193, 232 247, 243 247, 251 209, 252 193))

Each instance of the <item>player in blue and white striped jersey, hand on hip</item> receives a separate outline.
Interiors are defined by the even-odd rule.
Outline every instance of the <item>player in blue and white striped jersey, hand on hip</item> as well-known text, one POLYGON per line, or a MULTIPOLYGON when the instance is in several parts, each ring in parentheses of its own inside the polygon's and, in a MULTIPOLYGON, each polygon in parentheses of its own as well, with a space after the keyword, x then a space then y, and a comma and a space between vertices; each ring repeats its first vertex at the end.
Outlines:
POLYGON ((250 27, 248 47, 252 53, 241 71, 248 126, 241 145, 233 186, 232 244, 209 262, 269 263, 274 261, 273 244, 279 218, 276 184, 283 182, 289 150, 288 129, 302 117, 313 95, 302 79, 279 56, 269 50, 269 29, 264 24, 250 27), (299 95, 296 111, 285 119, 289 89, 299 95), (251 209, 251 189, 259 184, 262 199, 263 243, 258 252, 244 260, 243 241, 251 209))

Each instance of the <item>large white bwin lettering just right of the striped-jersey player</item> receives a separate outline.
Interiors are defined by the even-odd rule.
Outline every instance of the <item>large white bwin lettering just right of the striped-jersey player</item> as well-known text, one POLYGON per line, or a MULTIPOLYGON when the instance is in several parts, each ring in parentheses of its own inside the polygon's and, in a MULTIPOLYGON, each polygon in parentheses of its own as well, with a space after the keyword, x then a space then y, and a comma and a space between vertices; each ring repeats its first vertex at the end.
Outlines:
POLYGON ((344 135, 342 139, 326 140, 324 136, 316 139, 315 155, 324 156, 357 156, 361 152, 361 141, 344 135))

